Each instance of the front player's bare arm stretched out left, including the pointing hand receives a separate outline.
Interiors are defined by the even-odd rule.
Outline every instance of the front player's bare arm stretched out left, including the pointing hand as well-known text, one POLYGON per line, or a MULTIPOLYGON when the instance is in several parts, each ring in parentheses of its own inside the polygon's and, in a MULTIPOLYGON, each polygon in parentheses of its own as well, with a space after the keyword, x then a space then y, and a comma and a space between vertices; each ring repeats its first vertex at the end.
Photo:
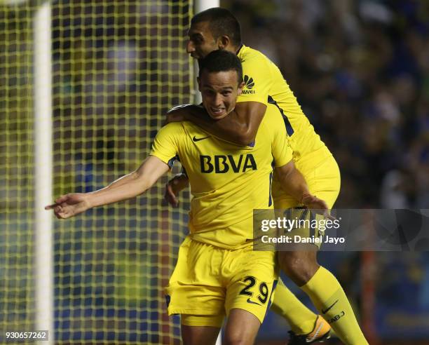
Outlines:
POLYGON ((90 193, 75 193, 60 196, 55 203, 45 207, 53 210, 58 219, 79 215, 90 208, 116 203, 147 191, 165 172, 168 165, 155 156, 149 156, 139 168, 109 184, 109 186, 90 193))

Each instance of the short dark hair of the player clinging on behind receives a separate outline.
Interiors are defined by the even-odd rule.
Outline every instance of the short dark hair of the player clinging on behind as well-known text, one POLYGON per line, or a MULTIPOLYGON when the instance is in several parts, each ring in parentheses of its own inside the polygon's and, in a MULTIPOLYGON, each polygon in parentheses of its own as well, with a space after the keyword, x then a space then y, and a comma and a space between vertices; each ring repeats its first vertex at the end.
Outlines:
POLYGON ((198 22, 209 23, 210 32, 214 39, 218 39, 220 36, 229 36, 234 46, 240 46, 240 23, 226 8, 214 7, 197 13, 191 19, 191 25, 198 22))

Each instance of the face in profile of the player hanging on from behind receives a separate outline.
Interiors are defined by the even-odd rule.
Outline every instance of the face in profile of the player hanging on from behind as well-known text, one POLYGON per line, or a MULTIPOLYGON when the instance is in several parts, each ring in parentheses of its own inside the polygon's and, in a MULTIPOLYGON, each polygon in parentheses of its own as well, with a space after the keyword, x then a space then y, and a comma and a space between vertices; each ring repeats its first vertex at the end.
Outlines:
POLYGON ((210 32, 208 22, 198 22, 191 25, 188 31, 189 40, 186 43, 186 53, 191 57, 202 59, 213 50, 219 49, 217 41, 210 32))

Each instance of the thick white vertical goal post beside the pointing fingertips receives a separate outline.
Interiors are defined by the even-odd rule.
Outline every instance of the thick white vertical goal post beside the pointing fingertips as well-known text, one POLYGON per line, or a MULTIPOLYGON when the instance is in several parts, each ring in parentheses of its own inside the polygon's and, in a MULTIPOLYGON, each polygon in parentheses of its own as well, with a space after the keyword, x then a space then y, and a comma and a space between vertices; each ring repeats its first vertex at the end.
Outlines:
POLYGON ((50 1, 37 8, 34 15, 34 276, 36 330, 48 330, 54 344, 53 330, 53 219, 43 209, 52 202, 52 48, 50 1))

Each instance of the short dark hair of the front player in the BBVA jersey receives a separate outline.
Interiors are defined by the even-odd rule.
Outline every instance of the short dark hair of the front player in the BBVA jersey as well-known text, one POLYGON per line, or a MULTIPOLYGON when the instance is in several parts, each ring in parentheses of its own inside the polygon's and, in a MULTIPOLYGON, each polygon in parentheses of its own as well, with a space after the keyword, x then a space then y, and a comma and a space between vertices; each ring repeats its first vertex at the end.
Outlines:
POLYGON ((238 84, 243 82, 243 67, 241 67, 241 62, 236 54, 228 50, 213 50, 203 59, 198 60, 198 65, 200 66, 199 77, 201 77, 203 71, 210 73, 236 71, 238 84))

